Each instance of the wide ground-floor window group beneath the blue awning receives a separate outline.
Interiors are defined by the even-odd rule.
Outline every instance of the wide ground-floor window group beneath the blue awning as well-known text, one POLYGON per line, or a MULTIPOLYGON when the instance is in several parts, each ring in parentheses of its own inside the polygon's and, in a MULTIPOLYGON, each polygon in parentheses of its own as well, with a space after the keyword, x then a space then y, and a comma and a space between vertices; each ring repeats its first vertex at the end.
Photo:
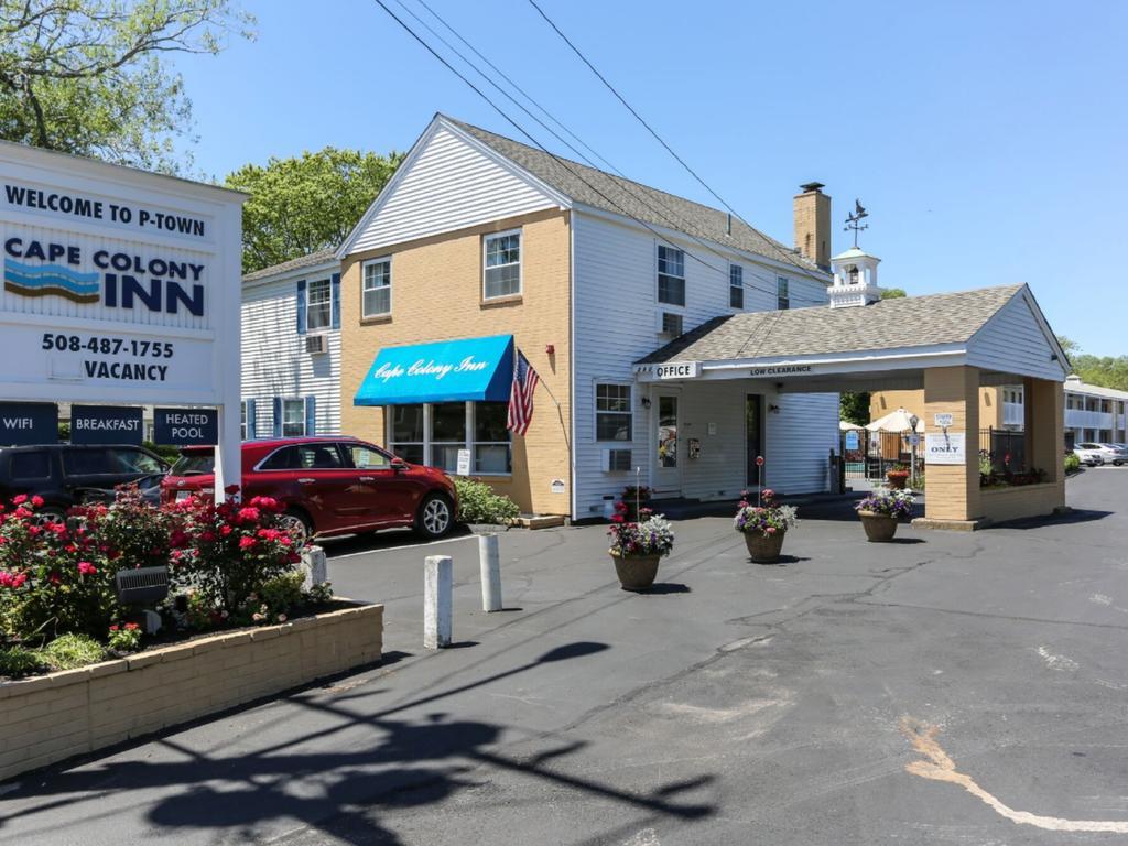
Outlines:
POLYGON ((458 469, 459 450, 470 452, 470 473, 504 476, 513 472, 508 403, 426 403, 396 405, 388 420, 388 447, 412 464, 458 469))

